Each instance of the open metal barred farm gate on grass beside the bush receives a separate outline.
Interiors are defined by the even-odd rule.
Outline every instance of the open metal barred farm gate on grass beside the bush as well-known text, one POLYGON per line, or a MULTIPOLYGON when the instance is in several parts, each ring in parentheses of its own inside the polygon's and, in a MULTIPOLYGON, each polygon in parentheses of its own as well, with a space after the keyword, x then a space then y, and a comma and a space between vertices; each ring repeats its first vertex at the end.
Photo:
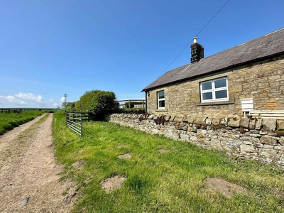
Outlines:
POLYGON ((65 113, 66 125, 70 129, 72 129, 72 131, 75 131, 75 133, 79 134, 81 137, 83 136, 83 120, 89 121, 88 112, 66 112, 65 113))

